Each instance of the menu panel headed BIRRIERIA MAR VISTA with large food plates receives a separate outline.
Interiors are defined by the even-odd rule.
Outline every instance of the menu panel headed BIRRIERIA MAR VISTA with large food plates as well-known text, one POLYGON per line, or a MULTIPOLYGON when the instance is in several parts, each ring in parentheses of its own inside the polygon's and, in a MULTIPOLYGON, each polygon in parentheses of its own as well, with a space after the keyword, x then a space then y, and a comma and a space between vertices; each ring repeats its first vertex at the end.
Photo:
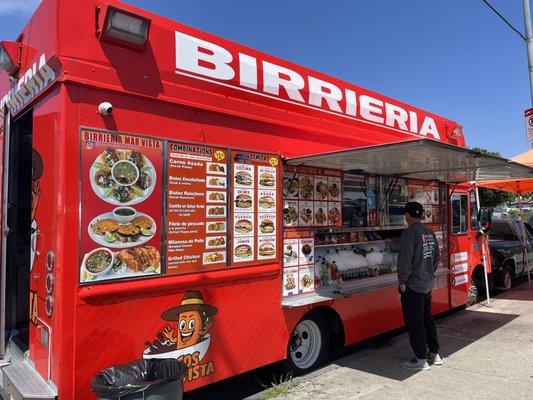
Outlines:
POLYGON ((81 131, 80 282, 161 274, 163 142, 81 131))

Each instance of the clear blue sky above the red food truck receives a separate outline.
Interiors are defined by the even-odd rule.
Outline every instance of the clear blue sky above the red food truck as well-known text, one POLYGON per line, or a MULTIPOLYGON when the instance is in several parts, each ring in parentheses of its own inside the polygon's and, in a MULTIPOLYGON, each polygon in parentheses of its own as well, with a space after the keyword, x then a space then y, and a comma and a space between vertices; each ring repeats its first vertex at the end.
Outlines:
MULTIPOLYGON (((453 119, 470 146, 530 147, 525 43, 481 0, 129 2, 453 119)), ((37 3, 0 0, 0 38, 37 3)), ((491 3, 524 31, 520 0, 491 3)))

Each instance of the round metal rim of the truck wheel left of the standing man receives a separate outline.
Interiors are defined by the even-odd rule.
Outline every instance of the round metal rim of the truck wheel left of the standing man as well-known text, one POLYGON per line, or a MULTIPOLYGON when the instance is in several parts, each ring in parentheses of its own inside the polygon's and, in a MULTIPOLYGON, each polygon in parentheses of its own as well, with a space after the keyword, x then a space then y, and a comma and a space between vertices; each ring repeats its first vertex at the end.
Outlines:
POLYGON ((317 361, 322 347, 320 328, 311 320, 300 322, 291 337, 291 361, 300 369, 307 369, 317 361))

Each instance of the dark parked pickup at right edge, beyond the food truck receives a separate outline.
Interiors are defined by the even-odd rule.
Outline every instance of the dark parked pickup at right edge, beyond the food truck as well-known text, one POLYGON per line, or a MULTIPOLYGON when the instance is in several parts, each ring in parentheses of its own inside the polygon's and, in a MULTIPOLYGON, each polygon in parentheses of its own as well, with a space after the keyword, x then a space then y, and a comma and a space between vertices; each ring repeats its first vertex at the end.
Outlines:
POLYGON ((495 287, 511 289, 514 280, 533 266, 533 228, 520 220, 493 219, 488 232, 495 287), (526 244, 524 244, 524 238, 526 244))

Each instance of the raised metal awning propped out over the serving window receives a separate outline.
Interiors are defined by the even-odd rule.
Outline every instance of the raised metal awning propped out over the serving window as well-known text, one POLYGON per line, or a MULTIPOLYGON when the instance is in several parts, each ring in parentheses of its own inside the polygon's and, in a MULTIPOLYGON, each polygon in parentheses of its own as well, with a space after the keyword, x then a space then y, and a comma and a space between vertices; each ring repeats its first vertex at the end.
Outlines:
POLYGON ((430 139, 360 147, 285 161, 288 165, 448 183, 533 177, 533 168, 526 165, 430 139))

